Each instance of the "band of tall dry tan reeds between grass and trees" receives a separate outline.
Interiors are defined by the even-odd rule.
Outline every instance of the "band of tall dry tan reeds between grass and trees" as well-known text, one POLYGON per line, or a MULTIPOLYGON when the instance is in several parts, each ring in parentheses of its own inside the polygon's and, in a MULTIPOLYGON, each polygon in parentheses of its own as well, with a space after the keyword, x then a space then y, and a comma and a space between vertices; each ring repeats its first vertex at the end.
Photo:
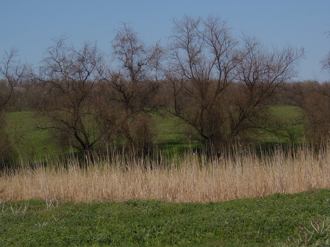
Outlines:
POLYGON ((330 188, 329 148, 318 155, 303 148, 295 155, 277 151, 261 158, 253 152, 241 152, 220 161, 193 153, 167 163, 148 158, 125 160, 117 155, 113 161, 96 162, 87 168, 80 168, 74 159, 66 168, 59 161, 34 169, 22 166, 15 173, 1 175, 1 198, 205 203, 330 188))

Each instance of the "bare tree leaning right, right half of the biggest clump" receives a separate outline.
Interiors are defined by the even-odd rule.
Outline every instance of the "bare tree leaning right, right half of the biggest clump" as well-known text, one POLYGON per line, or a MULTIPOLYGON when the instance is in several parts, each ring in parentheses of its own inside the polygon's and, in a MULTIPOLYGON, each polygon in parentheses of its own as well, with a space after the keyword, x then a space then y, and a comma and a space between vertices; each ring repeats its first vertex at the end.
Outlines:
POLYGON ((257 134, 260 129, 281 128, 270 114, 270 102, 284 82, 297 75, 299 60, 304 56, 302 48, 286 45, 282 49, 275 46, 268 49, 254 36, 243 34, 241 38, 240 63, 235 67, 237 89, 225 106, 230 121, 229 139, 251 132, 257 134))

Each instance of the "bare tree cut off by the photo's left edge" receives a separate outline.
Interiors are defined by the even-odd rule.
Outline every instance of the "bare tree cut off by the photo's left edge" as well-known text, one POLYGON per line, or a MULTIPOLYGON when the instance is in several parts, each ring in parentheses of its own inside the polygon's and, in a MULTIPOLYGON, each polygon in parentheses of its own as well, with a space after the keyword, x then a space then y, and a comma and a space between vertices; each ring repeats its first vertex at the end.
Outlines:
POLYGON ((0 76, 3 78, 0 81, 0 159, 2 161, 10 156, 12 146, 21 138, 21 134, 18 133, 11 137, 7 134, 4 115, 28 68, 26 63, 15 60, 18 55, 16 48, 13 47, 9 53, 5 53, 0 63, 0 76))

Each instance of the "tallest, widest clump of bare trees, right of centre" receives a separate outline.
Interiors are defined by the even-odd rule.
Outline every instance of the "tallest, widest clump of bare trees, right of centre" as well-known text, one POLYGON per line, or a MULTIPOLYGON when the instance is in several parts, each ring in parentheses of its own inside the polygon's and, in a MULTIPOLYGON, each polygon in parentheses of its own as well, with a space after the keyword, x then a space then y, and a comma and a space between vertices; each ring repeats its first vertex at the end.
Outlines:
POLYGON ((296 75, 303 49, 268 50, 248 35, 239 42, 218 16, 173 22, 167 69, 173 103, 168 111, 215 146, 269 129, 269 99, 296 75))

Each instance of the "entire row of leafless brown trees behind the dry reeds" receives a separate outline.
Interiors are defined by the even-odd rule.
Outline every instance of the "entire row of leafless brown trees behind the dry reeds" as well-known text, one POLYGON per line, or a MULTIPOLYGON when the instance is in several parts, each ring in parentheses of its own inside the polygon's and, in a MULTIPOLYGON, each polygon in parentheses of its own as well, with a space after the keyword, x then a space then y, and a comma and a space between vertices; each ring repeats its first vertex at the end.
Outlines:
MULTIPOLYGON (((166 47, 147 45, 123 23, 112 41, 110 62, 96 43, 77 47, 68 45, 66 37, 53 42, 38 69, 15 62, 15 49, 3 59, 0 114, 15 88, 24 88, 37 126, 48 129, 61 146, 85 154, 118 140, 128 148, 148 150, 157 134, 152 114, 159 109, 188 126, 191 138, 215 149, 262 131, 276 132, 282 126, 270 106, 297 75, 304 57, 302 48, 266 47, 246 33, 235 37, 226 21, 212 15, 174 19, 166 47)), ((326 61, 322 63, 327 69, 326 61)), ((310 91, 296 84, 290 90, 300 93, 291 101, 306 110, 313 105, 308 97, 328 100, 324 85, 308 86, 310 91)), ((1 140, 6 140, 1 123, 1 140)), ((1 141, 1 150, 12 143, 6 142, 1 141)))

